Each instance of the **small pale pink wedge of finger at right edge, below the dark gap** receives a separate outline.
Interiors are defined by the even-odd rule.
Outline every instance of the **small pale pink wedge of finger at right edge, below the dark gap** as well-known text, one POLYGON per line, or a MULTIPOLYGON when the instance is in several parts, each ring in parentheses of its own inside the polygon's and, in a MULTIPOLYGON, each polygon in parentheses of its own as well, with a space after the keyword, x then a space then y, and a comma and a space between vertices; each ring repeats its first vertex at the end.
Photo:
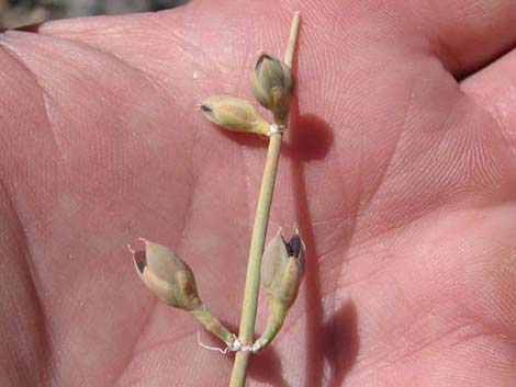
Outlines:
POLYGON ((516 155, 516 49, 465 79, 461 87, 491 112, 516 155))

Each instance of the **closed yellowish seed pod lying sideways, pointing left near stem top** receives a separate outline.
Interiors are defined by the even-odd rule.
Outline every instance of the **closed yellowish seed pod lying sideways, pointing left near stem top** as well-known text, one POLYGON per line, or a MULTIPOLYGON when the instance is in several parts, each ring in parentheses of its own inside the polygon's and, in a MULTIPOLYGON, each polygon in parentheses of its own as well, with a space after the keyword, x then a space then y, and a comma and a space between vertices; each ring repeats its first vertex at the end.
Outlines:
POLYGON ((225 129, 267 135, 269 123, 248 101, 229 95, 212 95, 201 104, 206 118, 225 129))

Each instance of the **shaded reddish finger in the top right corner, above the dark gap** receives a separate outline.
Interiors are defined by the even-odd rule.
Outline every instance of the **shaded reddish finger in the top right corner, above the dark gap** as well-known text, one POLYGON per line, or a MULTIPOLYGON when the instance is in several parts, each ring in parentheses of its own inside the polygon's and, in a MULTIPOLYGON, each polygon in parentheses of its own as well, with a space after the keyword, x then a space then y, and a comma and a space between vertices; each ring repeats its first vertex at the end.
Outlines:
POLYGON ((514 0, 419 0, 414 26, 422 29, 431 50, 457 77, 484 66, 516 44, 514 0))

